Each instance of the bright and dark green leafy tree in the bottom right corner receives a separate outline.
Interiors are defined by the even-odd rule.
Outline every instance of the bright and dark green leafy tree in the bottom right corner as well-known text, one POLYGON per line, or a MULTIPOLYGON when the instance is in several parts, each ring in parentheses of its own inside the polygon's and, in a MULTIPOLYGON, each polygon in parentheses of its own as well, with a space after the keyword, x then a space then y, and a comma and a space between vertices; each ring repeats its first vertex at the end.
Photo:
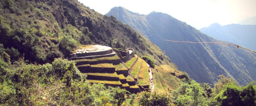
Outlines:
POLYGON ((236 85, 235 80, 220 76, 214 84, 214 95, 211 98, 212 105, 222 106, 255 106, 255 89, 253 82, 245 87, 236 85))

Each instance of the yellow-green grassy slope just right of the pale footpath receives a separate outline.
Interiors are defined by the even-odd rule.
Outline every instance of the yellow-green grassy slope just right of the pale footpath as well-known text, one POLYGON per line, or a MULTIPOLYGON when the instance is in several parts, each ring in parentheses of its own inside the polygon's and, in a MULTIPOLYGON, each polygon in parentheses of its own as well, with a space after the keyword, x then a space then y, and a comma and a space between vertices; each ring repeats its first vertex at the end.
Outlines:
POLYGON ((151 71, 153 72, 154 87, 158 89, 159 93, 167 92, 168 88, 169 91, 175 90, 179 87, 180 81, 185 80, 185 78, 179 79, 170 74, 175 72, 176 75, 183 75, 184 73, 168 65, 155 66, 154 69, 151 68, 151 71))

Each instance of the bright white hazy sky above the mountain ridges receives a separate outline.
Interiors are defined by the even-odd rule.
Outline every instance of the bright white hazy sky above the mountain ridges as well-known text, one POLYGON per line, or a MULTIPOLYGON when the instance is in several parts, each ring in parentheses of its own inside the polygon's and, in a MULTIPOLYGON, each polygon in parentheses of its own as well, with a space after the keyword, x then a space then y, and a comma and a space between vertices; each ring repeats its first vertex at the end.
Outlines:
POLYGON ((95 11, 106 14, 113 7, 134 13, 162 12, 197 29, 213 23, 236 24, 256 16, 256 0, 78 0, 95 11))

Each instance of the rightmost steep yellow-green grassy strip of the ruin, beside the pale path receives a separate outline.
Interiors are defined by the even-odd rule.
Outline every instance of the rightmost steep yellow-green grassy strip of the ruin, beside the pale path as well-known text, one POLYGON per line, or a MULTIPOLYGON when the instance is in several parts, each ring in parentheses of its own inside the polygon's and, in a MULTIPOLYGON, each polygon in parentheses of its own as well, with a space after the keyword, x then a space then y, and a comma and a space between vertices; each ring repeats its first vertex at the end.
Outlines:
POLYGON ((138 77, 138 84, 141 86, 150 85, 149 67, 145 61, 142 61, 141 69, 138 77))

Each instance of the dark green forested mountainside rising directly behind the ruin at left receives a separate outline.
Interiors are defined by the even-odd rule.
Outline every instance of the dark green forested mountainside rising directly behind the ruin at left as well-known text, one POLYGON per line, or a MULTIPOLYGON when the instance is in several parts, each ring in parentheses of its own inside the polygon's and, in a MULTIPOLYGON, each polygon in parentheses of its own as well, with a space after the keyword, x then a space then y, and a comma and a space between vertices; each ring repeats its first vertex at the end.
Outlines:
MULTIPOLYGON (((86 5, 86 4, 84 4, 86 5)), ((156 64, 174 66, 159 47, 130 26, 104 16, 77 0, 1 0, 0 53, 14 62, 24 55, 36 63, 67 57, 81 44, 134 48, 156 64)))

